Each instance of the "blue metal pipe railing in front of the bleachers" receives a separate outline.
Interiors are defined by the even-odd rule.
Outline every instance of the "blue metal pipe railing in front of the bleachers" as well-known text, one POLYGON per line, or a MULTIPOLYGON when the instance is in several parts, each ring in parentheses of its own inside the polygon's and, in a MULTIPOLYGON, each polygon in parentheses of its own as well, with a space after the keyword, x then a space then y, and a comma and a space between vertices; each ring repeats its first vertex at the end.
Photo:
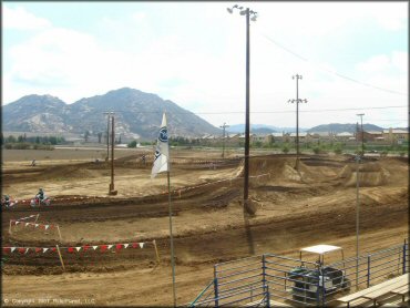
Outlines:
POLYGON ((330 265, 264 254, 214 265, 214 279, 189 307, 328 306, 336 297, 409 273, 409 244, 330 265))

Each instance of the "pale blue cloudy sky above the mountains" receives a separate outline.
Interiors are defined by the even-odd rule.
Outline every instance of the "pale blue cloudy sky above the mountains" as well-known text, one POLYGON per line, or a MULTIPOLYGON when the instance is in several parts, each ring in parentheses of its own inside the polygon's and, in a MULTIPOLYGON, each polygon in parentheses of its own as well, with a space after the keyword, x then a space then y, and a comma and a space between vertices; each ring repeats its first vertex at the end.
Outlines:
MULTIPOLYGON (((235 3, 2 2, 2 104, 28 94, 73 103, 130 86, 216 126, 244 123, 245 18, 226 11, 235 3)), ((258 12, 252 123, 295 125, 287 101, 298 73, 308 100, 301 127, 355 123, 357 113, 365 123, 407 125, 407 1, 238 3, 258 12)))

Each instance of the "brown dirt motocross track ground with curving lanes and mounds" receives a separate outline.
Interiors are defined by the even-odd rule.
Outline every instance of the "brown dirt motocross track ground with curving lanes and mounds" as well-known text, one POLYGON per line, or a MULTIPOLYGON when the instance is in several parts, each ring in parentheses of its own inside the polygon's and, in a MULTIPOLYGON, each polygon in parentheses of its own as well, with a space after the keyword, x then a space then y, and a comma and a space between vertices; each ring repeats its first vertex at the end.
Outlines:
MULTIPOLYGON (((3 250, 2 304, 172 306, 167 181, 166 174, 150 178, 153 151, 115 152, 116 195, 107 194, 112 166, 102 160, 104 150, 59 151, 61 157, 51 151, 35 166, 27 160, 33 153, 21 160, 2 153, 2 193, 19 201, 2 208, 2 246, 32 247, 3 250), (49 207, 30 207, 39 187, 51 197, 49 207), (37 214, 37 224, 59 226, 61 239, 55 228, 10 226, 10 219, 37 214), (144 246, 66 248, 119 243, 144 246), (57 251, 34 251, 55 245, 63 247, 65 271, 57 251)), ((357 168, 361 253, 408 238, 407 158, 369 157, 357 165, 351 156, 301 156, 297 171, 293 155, 252 154, 244 211, 240 154, 222 160, 216 151, 171 150, 177 305, 195 299, 216 263, 264 253, 298 257, 299 248, 316 244, 355 256, 357 168)))

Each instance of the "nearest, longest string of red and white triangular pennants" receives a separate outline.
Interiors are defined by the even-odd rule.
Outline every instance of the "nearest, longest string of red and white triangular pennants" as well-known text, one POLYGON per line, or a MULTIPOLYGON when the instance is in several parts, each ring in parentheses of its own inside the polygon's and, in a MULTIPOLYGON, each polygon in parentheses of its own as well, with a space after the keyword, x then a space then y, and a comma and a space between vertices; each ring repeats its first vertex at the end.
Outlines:
MULTIPOLYGON (((95 250, 95 251, 107 251, 112 250, 114 248, 116 251, 121 249, 126 249, 126 248, 144 248, 146 244, 150 244, 150 242, 141 242, 141 243, 126 243, 126 244, 104 244, 104 245, 83 245, 83 246, 69 246, 69 247, 59 247, 60 250, 73 254, 73 253, 80 253, 80 251, 88 251, 88 250, 95 250)), ((4 254, 12 254, 12 253, 20 253, 21 255, 25 255, 30 251, 32 253, 55 253, 57 247, 2 247, 2 251, 4 254)))

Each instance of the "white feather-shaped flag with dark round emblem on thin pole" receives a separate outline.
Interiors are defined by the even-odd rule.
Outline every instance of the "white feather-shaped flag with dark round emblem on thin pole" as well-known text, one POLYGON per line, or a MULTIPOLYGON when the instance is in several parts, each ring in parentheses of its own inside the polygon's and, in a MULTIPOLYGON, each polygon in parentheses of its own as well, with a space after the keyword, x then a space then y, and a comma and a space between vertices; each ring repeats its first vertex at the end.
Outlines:
POLYGON ((168 171, 168 130, 166 129, 165 113, 162 116, 162 124, 156 141, 154 165, 151 172, 151 178, 155 177, 158 173, 168 171))

